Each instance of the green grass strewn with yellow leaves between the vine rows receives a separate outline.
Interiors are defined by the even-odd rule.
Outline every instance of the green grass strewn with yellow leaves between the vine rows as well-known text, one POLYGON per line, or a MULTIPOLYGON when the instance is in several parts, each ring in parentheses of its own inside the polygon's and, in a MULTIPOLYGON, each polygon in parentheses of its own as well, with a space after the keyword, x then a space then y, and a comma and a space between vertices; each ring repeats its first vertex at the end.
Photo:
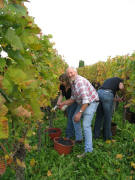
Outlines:
MULTIPOLYGON (((53 120, 54 127, 62 129, 65 136, 66 117, 57 111, 53 120)), ((117 123, 117 132, 113 141, 104 142, 93 139, 94 150, 84 158, 78 159, 77 154, 84 152, 84 144, 75 145, 70 154, 59 155, 54 150, 53 141, 42 134, 41 151, 37 151, 37 136, 30 138, 29 143, 35 147, 26 155, 26 180, 135 180, 135 124, 126 121, 123 124, 122 107, 115 112, 113 121, 117 123), (34 160, 34 164, 31 161, 34 160)), ((92 127, 94 120, 92 122, 92 127)), ((48 121, 42 130, 46 129, 48 121)), ((14 180, 15 173, 9 167, 2 177, 3 180, 14 180)))

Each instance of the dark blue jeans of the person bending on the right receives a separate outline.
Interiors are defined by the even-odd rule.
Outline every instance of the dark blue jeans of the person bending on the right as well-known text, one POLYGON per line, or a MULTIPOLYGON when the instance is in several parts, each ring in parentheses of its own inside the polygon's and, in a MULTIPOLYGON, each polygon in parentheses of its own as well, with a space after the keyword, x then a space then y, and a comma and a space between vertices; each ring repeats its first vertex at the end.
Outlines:
POLYGON ((100 103, 96 112, 94 137, 99 138, 101 126, 103 124, 103 138, 106 141, 107 139, 111 139, 112 137, 111 121, 114 95, 112 92, 103 89, 98 90, 98 95, 100 103))

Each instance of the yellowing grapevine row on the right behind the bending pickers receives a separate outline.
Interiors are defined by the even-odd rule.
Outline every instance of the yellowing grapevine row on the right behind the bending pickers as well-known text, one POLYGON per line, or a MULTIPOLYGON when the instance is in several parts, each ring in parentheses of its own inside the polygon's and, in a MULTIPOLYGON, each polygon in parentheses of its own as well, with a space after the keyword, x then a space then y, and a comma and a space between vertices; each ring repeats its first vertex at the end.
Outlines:
POLYGON ((120 77, 124 80, 125 92, 123 97, 125 104, 135 112, 135 54, 109 57, 106 62, 98 62, 91 66, 78 68, 80 75, 86 77, 90 82, 102 85, 104 80, 110 77, 120 77))

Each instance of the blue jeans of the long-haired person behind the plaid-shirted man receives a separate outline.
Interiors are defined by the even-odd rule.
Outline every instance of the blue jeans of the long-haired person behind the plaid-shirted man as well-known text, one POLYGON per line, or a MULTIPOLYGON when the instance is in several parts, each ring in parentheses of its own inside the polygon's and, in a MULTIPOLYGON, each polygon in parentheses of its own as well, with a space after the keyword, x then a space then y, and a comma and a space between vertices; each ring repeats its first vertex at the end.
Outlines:
POLYGON ((77 108, 77 103, 73 103, 72 105, 68 106, 66 109, 67 112, 67 127, 66 127, 66 138, 71 138, 75 136, 75 129, 74 124, 72 121, 73 114, 77 108))

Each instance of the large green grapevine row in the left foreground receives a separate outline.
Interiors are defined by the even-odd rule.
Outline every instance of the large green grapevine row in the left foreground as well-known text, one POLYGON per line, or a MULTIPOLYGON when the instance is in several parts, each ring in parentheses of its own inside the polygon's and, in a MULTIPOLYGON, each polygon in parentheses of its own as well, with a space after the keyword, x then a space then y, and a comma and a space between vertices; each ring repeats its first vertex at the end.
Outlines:
MULTIPOLYGON (((42 121, 41 107, 51 105, 57 96, 58 77, 67 67, 50 42, 52 36, 42 35, 23 2, 5 0, 0 9, 0 52, 8 55, 0 56, 0 88, 8 108, 9 154, 17 151, 19 139, 28 142, 33 128, 42 121)), ((14 179, 14 172, 8 173, 14 179)))

